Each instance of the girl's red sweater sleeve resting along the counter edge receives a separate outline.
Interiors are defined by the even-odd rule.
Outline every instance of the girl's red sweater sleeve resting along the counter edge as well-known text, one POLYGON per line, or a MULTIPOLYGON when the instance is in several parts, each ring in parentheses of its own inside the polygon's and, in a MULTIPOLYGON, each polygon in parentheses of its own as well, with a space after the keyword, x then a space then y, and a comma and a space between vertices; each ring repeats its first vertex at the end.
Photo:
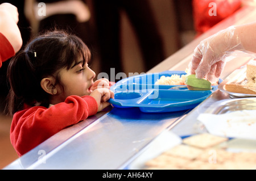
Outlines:
POLYGON ((19 156, 35 148, 53 134, 96 114, 98 105, 92 96, 69 96, 65 102, 49 108, 35 106, 16 112, 10 138, 19 156))

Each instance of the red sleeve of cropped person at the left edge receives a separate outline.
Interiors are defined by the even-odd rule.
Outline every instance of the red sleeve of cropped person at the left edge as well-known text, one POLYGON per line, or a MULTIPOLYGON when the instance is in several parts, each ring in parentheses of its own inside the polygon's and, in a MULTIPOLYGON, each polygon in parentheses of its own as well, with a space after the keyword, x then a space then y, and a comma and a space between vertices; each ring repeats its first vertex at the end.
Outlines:
POLYGON ((15 51, 10 42, 6 39, 6 37, 0 32, 0 68, 2 66, 2 62, 6 61, 8 58, 11 58, 15 55, 15 51))

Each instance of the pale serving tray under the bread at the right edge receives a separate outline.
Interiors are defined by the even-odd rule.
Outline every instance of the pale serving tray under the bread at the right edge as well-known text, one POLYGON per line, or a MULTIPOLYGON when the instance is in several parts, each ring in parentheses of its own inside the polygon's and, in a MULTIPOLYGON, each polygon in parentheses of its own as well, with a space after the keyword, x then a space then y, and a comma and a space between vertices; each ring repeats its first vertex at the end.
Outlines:
POLYGON ((224 89, 225 85, 228 83, 235 83, 240 85, 245 85, 247 82, 246 79, 246 66, 242 66, 242 68, 233 71, 224 81, 218 85, 218 89, 222 92, 226 92, 229 94, 230 98, 251 98, 256 97, 255 94, 242 94, 236 92, 230 92, 224 89))

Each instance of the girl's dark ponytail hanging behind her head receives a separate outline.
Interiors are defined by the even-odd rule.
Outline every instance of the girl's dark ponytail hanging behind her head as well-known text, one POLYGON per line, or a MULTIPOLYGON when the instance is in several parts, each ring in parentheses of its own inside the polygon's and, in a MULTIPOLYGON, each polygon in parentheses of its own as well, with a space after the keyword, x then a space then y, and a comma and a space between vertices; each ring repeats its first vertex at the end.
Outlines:
POLYGON ((22 50, 10 61, 7 70, 11 86, 8 98, 9 104, 7 105, 7 111, 10 115, 21 110, 24 103, 34 106, 36 99, 39 98, 39 101, 42 99, 38 95, 43 96, 45 93, 40 87, 40 80, 36 75, 36 66, 33 62, 35 58, 34 52, 22 50))

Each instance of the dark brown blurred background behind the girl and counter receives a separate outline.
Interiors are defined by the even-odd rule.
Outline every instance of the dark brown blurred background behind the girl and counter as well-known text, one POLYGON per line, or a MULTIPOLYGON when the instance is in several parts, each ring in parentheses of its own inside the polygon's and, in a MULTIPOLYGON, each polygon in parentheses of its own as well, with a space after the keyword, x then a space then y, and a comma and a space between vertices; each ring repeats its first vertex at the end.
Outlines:
MULTIPOLYGON (((54 28, 67 30, 81 37, 92 51, 90 66, 96 72, 96 78, 102 72, 107 73, 110 78, 110 74, 113 73, 110 72, 110 68, 114 68, 114 76, 119 72, 127 76, 129 73, 146 73, 187 45, 198 33, 202 33, 196 30, 193 18, 193 10, 199 1, 1 0, 0 2, 9 2, 18 7, 18 26, 23 38, 23 47, 37 33, 54 28)), ((207 3, 205 7, 208 8, 207 3)), ((237 10, 237 7, 232 11, 237 10)), ((223 18, 225 17, 220 17, 223 18)), ((5 108, 5 99, 9 92, 6 82, 9 61, 4 62, 0 69, 1 112, 5 108)), ((9 138, 11 117, 4 113, 0 115, 0 169, 2 169, 18 158, 18 155, 9 138)))

